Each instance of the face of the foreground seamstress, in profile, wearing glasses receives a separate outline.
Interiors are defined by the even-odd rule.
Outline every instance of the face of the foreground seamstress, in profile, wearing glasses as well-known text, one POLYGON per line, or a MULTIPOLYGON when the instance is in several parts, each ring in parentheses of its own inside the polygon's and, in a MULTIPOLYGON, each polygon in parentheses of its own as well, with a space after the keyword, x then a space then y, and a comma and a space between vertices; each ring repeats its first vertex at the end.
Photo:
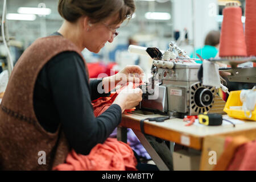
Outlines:
POLYGON ((117 28, 119 24, 112 24, 114 17, 105 22, 90 24, 88 29, 88 36, 85 37, 85 48, 89 51, 98 53, 103 48, 106 42, 112 43, 114 37, 118 34, 117 28))

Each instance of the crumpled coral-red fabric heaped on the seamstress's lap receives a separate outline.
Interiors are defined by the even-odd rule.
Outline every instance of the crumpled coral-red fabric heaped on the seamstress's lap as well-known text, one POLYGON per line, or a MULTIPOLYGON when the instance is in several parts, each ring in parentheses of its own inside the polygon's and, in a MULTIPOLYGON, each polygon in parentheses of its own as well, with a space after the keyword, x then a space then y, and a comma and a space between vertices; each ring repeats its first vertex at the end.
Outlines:
POLYGON ((57 171, 137 171, 137 160, 131 147, 115 138, 97 144, 89 155, 69 152, 66 163, 53 168, 57 171))

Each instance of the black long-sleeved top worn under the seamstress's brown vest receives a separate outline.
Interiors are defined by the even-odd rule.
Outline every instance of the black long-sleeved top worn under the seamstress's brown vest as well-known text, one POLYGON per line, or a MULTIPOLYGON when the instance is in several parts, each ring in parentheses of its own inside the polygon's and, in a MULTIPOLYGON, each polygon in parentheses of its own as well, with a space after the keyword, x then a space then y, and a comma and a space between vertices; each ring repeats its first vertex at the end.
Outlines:
POLYGON ((100 80, 91 80, 84 61, 76 52, 62 52, 44 65, 34 89, 34 110, 40 125, 54 133, 61 124, 69 145, 88 155, 97 143, 104 143, 121 122, 122 110, 113 104, 94 117, 91 100, 108 94, 97 92, 100 80))

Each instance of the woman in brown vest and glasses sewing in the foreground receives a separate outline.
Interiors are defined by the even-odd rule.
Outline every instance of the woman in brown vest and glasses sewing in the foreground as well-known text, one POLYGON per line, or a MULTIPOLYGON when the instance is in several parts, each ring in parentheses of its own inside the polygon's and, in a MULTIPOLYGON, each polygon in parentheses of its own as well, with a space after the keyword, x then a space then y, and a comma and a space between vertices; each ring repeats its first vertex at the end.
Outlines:
POLYGON ((87 155, 109 137, 122 112, 142 100, 141 89, 124 90, 95 118, 92 100, 108 95, 119 81, 141 80, 129 75, 143 71, 127 66, 117 75, 88 81, 80 53, 84 48, 97 53, 113 42, 117 28, 134 13, 134 1, 60 0, 58 10, 63 25, 24 51, 7 85, 0 109, 1 169, 52 169, 64 163, 71 148, 87 155))

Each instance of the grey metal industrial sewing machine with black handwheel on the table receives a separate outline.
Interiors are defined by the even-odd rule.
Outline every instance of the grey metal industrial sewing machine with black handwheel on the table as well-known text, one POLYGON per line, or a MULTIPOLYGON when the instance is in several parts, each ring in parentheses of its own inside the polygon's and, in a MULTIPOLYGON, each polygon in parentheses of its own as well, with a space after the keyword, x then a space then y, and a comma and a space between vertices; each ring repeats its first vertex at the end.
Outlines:
POLYGON ((205 86, 199 81, 197 75, 201 64, 195 63, 199 59, 191 59, 173 42, 170 42, 167 51, 130 46, 129 52, 149 55, 153 59, 152 77, 140 86, 143 100, 137 109, 158 111, 180 118, 205 111, 224 113, 225 102, 217 95, 216 88, 205 86), (214 102, 218 103, 217 106, 214 106, 214 102))

